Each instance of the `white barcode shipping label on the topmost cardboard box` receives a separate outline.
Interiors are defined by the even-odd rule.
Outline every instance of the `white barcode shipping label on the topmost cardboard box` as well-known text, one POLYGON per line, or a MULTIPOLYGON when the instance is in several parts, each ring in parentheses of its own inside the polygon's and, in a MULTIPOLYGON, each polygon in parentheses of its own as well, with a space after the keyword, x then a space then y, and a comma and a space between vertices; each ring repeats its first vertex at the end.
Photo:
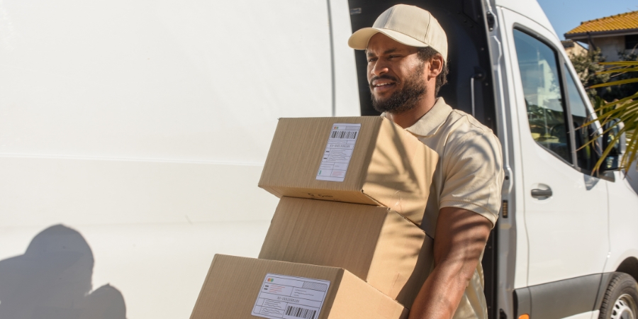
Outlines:
POLYGON ((328 136, 323 158, 317 172, 320 181, 343 181, 350 164, 354 143, 359 138, 361 124, 335 123, 328 136))

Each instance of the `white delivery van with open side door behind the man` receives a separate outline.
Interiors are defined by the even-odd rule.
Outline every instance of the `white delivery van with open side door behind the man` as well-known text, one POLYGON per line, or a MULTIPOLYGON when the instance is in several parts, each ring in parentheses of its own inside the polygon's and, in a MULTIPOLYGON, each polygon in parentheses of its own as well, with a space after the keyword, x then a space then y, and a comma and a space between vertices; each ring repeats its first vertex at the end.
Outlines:
POLYGON ((447 30, 440 93, 503 144, 490 318, 637 318, 638 196, 576 151, 592 108, 536 1, 9 0, 0 319, 187 318, 214 254, 259 252, 277 118, 376 115, 346 43, 398 2, 447 30))

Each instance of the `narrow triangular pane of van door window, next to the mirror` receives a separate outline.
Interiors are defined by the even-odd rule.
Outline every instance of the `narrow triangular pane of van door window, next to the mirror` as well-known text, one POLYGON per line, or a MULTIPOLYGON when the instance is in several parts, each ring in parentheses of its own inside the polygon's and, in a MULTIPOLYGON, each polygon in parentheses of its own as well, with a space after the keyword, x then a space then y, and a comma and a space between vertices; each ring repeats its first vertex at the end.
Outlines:
POLYGON ((578 163, 578 167, 584 169, 588 172, 594 167, 596 164, 596 160, 598 159, 595 154, 593 145, 587 145, 583 147, 589 140, 591 140, 593 130, 595 128, 586 127, 581 128, 583 123, 588 121, 591 113, 588 111, 585 102, 583 101, 583 96, 578 91, 578 86, 576 86, 576 81, 571 76, 569 69, 565 66, 565 74, 567 75, 567 94, 569 96, 569 110, 571 111, 571 121, 573 121, 573 128, 576 130, 573 135, 576 146, 576 159, 578 163), (581 147, 583 147, 581 150, 581 147))

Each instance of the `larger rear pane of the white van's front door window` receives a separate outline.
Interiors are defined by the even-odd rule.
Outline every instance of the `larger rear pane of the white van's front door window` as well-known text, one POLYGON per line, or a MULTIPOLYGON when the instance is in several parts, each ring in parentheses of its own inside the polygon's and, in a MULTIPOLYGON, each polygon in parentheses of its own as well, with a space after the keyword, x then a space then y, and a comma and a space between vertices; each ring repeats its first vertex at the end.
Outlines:
POLYGON ((556 51, 520 30, 514 30, 514 44, 532 138, 571 164, 556 51))

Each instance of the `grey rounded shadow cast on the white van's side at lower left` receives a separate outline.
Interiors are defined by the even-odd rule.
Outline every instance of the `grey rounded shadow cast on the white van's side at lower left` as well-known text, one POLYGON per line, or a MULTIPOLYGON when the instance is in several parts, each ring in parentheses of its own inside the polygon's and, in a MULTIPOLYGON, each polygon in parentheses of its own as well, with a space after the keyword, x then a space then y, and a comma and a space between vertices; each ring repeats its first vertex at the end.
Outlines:
POLYGON ((0 261, 0 319, 125 319, 122 293, 91 291, 93 252, 76 230, 54 225, 26 252, 0 261))

